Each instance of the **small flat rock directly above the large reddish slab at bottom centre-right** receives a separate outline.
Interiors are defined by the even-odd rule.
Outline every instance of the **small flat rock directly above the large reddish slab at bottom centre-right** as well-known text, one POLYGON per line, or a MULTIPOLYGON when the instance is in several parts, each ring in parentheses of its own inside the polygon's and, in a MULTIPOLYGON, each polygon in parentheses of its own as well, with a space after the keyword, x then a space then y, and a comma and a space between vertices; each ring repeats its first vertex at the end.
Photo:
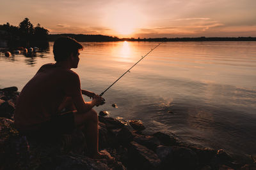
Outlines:
POLYGON ((157 146, 160 145, 159 139, 154 136, 136 135, 134 141, 140 145, 146 146, 150 150, 156 150, 157 146))

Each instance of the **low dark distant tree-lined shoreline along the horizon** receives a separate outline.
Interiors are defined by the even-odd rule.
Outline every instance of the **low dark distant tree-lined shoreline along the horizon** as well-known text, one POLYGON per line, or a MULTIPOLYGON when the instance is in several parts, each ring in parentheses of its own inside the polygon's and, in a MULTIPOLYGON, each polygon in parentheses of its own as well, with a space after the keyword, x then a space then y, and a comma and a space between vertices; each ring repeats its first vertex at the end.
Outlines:
POLYGON ((48 40, 55 41, 60 36, 69 36, 79 42, 109 42, 109 41, 256 41, 256 37, 197 37, 197 38, 118 38, 116 36, 86 35, 86 34, 49 34, 48 40))

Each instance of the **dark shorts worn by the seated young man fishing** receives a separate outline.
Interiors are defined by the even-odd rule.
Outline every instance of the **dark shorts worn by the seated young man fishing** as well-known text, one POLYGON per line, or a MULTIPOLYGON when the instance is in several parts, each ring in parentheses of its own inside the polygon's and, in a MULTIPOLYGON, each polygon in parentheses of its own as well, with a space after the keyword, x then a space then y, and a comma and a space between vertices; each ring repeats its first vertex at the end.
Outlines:
POLYGON ((35 131, 23 132, 23 134, 28 138, 54 139, 59 138, 62 134, 72 134, 75 128, 74 111, 68 111, 38 125, 38 129, 35 131))

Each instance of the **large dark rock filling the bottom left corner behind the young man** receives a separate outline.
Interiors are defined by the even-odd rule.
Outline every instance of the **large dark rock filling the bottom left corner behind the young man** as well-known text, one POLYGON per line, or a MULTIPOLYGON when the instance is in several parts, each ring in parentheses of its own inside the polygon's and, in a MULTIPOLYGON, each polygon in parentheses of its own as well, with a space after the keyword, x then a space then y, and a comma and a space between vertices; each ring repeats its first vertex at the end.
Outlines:
POLYGON ((14 128, 13 120, 0 118, 0 168, 26 169, 29 161, 26 137, 14 128))

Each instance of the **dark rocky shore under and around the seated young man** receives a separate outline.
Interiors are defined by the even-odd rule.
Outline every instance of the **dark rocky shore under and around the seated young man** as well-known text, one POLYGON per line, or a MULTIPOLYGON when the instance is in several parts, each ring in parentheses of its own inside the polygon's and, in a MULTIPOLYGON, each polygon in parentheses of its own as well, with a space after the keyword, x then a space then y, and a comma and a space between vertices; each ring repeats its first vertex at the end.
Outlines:
POLYGON ((86 156, 86 136, 29 139, 13 125, 17 87, 0 89, 0 169, 256 169, 255 155, 235 159, 224 150, 198 148, 162 132, 143 134, 142 122, 99 116, 99 148, 115 160, 86 156), (50 142, 51 141, 51 142, 50 142))

